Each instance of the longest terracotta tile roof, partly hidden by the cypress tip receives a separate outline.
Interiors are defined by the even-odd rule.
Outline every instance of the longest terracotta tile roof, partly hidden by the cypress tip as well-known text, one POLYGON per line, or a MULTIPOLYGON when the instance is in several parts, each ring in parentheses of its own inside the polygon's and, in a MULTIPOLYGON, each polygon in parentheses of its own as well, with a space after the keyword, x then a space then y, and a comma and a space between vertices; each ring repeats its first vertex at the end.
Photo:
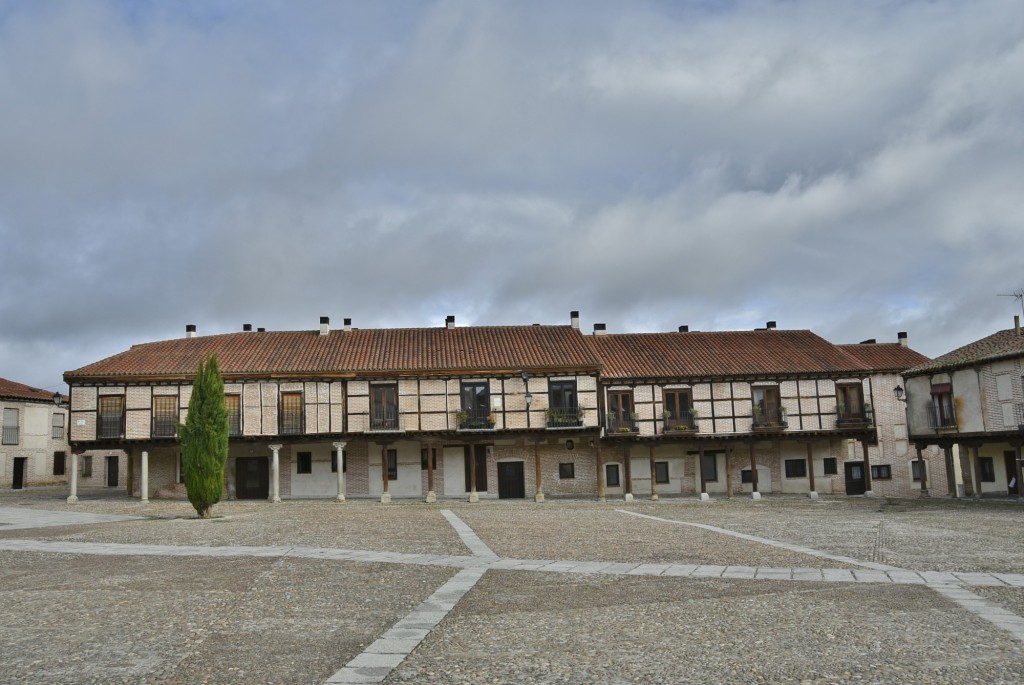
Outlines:
POLYGON ((401 374, 585 369, 599 362, 568 326, 229 333, 134 345, 65 373, 66 381, 188 377, 216 352, 225 375, 401 374))

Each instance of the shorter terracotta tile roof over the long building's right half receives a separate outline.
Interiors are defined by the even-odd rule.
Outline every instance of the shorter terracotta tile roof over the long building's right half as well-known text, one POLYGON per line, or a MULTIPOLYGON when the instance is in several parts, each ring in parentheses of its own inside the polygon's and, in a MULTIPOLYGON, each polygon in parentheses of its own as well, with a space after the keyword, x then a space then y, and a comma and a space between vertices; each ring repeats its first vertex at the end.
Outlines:
POLYGON ((868 368, 810 331, 625 333, 587 336, 604 376, 724 378, 860 374, 868 368))

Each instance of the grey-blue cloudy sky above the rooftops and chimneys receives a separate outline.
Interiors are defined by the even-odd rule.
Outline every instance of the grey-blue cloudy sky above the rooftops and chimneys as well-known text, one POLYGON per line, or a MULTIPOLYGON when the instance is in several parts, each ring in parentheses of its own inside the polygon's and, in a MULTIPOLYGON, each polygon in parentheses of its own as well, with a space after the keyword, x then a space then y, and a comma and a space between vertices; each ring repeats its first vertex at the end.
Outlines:
POLYGON ((0 0, 0 376, 357 327, 778 322, 934 356, 1024 288, 1020 0, 0 0))

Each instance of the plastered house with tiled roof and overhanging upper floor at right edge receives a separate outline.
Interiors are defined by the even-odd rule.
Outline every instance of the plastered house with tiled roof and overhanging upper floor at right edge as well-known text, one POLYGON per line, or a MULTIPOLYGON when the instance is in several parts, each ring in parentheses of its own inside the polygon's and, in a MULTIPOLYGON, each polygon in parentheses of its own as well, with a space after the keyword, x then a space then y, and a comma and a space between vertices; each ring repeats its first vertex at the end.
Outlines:
MULTIPOLYGON (((1024 445, 1024 334, 1014 328, 906 372, 910 440, 941 451, 943 471, 914 467, 927 491, 1021 497, 1024 445)), ((904 390, 900 388, 902 395, 904 390)))

